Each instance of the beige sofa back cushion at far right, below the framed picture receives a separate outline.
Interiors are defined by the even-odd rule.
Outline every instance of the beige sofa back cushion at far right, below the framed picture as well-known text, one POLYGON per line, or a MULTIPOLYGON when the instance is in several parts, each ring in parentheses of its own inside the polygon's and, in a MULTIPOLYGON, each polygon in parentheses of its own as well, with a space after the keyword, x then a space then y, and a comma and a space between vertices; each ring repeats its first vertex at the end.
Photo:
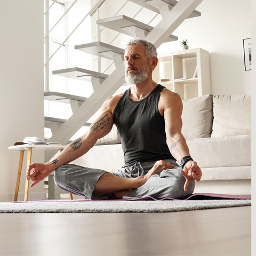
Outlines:
POLYGON ((251 134, 251 95, 214 95, 211 137, 251 134))

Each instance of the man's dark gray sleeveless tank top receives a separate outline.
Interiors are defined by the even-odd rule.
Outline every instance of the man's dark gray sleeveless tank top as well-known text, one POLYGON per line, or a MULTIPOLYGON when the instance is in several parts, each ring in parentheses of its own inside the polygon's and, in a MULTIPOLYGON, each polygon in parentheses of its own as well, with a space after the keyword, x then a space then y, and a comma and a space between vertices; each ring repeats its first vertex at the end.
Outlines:
POLYGON ((140 101, 130 98, 126 90, 114 110, 114 122, 121 136, 125 166, 174 157, 166 144, 164 117, 158 110, 158 85, 140 101))

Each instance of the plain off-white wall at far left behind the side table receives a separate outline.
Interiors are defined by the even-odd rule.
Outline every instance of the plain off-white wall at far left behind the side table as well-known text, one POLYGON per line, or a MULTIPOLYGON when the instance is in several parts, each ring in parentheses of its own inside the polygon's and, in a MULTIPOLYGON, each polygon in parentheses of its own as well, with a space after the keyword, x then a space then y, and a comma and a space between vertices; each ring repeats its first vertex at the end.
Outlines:
MULTIPOLYGON (((24 137, 44 138, 43 0, 1 0, 1 179, 0 201, 13 201, 19 152, 7 147, 24 137)), ((26 158, 20 193, 25 188, 26 158)), ((32 161, 44 161, 43 152, 32 161)), ((42 199, 43 182, 30 189, 29 199, 42 199)), ((23 199, 23 197, 19 197, 23 199)))

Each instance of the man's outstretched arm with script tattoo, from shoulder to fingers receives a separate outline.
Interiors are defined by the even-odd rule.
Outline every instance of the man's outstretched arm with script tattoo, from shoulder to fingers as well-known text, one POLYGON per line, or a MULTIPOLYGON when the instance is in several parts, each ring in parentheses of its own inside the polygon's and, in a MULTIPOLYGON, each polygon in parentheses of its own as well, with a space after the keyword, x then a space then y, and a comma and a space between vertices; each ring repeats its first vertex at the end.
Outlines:
POLYGON ((71 142, 53 161, 29 165, 26 176, 28 180, 33 181, 31 187, 45 179, 59 166, 72 162, 87 153, 98 139, 107 135, 113 127, 113 110, 117 101, 118 97, 109 98, 102 107, 101 115, 91 124, 89 131, 71 142))

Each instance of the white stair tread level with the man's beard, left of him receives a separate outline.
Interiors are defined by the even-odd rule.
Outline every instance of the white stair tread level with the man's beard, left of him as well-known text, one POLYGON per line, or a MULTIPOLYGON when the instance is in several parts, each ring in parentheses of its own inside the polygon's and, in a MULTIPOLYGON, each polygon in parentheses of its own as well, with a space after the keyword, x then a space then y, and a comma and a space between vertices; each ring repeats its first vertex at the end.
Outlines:
POLYGON ((106 79, 108 77, 106 74, 77 67, 53 70, 52 74, 86 81, 91 80, 92 77, 98 77, 102 79, 106 79))

